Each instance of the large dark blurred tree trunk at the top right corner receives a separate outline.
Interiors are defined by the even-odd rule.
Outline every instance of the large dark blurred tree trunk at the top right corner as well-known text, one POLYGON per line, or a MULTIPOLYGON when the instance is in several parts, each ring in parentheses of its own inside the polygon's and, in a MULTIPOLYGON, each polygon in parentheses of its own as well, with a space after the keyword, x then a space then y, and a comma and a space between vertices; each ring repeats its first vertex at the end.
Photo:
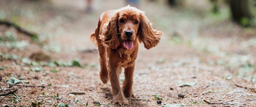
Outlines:
POLYGON ((250 0, 230 0, 232 19, 243 26, 253 25, 254 18, 250 8, 250 0))

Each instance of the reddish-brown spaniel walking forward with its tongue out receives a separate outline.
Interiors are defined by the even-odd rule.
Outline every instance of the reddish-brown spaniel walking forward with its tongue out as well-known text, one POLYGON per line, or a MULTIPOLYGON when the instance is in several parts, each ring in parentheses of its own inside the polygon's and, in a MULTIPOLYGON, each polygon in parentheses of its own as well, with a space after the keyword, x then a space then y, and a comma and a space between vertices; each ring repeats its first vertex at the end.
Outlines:
POLYGON ((152 28, 145 12, 135 7, 128 5, 101 14, 90 39, 98 46, 100 79, 104 84, 110 79, 114 103, 128 105, 126 97, 134 97, 132 84, 138 43, 150 49, 159 43, 161 36, 162 31, 152 28), (122 67, 125 79, 120 87, 122 67))

